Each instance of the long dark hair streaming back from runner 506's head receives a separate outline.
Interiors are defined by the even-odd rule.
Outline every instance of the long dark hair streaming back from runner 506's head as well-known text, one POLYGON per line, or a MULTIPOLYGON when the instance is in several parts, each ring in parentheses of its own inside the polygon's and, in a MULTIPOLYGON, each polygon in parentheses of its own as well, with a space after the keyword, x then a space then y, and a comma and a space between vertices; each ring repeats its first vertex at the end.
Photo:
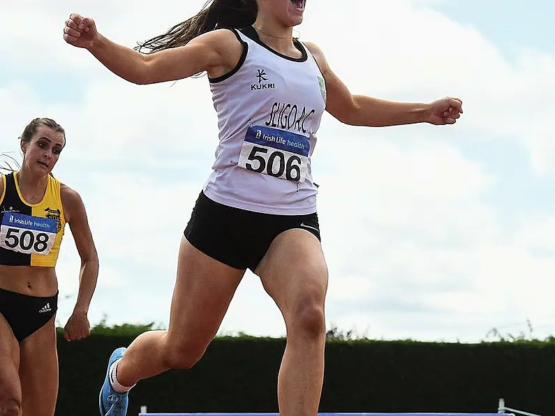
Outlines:
POLYGON ((138 43, 135 50, 151 54, 184 46, 193 38, 214 29, 249 27, 256 21, 256 0, 209 0, 197 15, 178 23, 165 34, 138 43))

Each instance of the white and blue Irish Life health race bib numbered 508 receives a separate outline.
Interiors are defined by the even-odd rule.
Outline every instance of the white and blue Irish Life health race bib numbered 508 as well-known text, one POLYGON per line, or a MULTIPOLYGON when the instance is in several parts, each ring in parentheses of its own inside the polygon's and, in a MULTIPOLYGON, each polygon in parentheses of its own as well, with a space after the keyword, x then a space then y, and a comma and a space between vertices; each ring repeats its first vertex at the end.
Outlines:
POLYGON ((0 247, 24 254, 47 255, 56 239, 56 221, 5 212, 0 225, 0 247))

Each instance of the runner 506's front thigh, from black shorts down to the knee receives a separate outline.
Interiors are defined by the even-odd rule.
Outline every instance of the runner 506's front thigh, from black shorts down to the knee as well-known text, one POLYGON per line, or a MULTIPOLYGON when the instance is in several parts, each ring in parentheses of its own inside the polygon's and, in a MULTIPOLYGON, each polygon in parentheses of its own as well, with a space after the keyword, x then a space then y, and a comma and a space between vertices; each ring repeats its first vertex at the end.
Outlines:
POLYGON ((286 322, 299 304, 312 302, 323 306, 327 265, 320 241, 310 232, 297 228, 282 232, 255 272, 286 322))

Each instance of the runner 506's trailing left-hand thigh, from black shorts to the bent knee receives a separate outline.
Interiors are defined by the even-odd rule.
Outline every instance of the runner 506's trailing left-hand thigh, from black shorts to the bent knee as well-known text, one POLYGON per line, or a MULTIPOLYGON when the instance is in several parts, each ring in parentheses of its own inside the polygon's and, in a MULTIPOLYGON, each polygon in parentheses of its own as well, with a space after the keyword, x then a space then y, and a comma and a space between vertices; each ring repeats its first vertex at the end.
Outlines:
POLYGON ((244 270, 205 255, 182 237, 168 336, 177 343, 212 340, 244 270))

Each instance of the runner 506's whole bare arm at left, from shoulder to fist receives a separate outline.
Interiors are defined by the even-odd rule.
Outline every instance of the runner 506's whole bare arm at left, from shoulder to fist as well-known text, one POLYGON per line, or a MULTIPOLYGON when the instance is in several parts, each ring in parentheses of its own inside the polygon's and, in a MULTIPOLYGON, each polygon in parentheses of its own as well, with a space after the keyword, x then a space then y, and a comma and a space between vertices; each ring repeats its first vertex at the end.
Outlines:
POLYGON ((64 27, 64 40, 89 50, 119 77, 134 84, 180 80, 206 71, 219 77, 235 68, 242 45, 227 29, 209 31, 184 46, 143 54, 101 35, 90 17, 72 13, 64 27))

